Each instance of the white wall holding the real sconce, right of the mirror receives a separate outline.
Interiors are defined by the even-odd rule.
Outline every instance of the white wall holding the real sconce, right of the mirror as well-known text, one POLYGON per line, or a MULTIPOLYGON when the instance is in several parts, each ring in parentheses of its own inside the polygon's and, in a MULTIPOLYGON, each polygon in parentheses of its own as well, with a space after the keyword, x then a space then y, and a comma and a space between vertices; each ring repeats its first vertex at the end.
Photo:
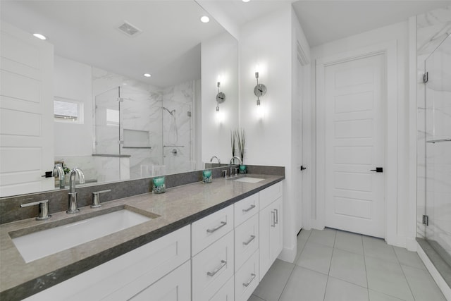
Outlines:
POLYGON ((280 258, 296 255, 297 206, 292 180, 292 8, 287 4, 242 26, 240 31, 240 126, 247 133, 247 164, 285 166, 283 185, 284 249, 280 258), (257 107, 259 82, 268 92, 257 107))

